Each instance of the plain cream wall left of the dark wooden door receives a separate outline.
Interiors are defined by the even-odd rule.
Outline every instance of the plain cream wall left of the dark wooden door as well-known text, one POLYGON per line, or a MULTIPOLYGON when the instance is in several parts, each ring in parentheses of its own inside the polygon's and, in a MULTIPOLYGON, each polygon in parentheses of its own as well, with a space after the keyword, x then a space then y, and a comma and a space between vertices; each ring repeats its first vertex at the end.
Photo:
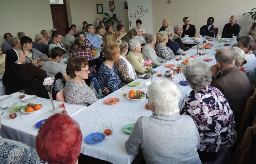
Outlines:
POLYGON ((53 28, 49 0, 0 0, 0 21, 0 47, 6 32, 24 32, 34 40, 41 30, 49 33, 53 28))

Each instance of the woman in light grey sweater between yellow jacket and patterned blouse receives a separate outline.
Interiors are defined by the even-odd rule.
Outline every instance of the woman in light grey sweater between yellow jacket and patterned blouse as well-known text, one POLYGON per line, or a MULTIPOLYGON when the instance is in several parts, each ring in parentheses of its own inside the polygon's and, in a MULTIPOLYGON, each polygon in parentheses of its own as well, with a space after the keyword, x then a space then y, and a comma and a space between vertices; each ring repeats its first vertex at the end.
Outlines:
POLYGON ((166 62, 168 60, 166 59, 161 59, 156 55, 156 51, 154 50, 154 48, 152 46, 154 46, 156 44, 156 34, 153 32, 148 32, 146 34, 146 44, 143 47, 142 50, 142 54, 143 54, 143 59, 146 61, 148 59, 150 59, 152 61, 152 64, 155 67, 158 67, 160 65, 162 65, 162 62, 166 62))

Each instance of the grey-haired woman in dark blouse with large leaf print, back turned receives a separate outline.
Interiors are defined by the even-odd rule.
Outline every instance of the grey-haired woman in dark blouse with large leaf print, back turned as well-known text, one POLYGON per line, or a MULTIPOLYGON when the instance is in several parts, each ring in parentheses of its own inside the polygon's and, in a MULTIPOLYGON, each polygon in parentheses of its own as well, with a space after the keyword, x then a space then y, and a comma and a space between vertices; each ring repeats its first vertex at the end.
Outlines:
POLYGON ((233 112, 224 95, 215 87, 210 68, 200 60, 191 60, 182 68, 193 91, 181 105, 181 115, 193 118, 200 135, 199 157, 203 162, 213 161, 218 149, 227 145, 230 153, 237 138, 233 112))

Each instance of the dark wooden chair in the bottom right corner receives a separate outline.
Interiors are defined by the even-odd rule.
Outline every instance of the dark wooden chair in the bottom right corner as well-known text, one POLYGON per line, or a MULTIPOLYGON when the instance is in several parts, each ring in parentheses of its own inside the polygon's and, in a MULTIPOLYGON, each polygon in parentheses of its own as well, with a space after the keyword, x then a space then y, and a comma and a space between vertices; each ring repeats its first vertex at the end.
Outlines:
MULTIPOLYGON (((251 151, 254 149, 253 146, 255 146, 255 134, 256 124, 254 124, 252 127, 246 128, 242 142, 238 146, 236 153, 233 155, 232 160, 234 164, 243 163, 245 153, 250 149, 251 146, 251 151)), ((252 154, 251 158, 255 158, 254 154, 252 154)))

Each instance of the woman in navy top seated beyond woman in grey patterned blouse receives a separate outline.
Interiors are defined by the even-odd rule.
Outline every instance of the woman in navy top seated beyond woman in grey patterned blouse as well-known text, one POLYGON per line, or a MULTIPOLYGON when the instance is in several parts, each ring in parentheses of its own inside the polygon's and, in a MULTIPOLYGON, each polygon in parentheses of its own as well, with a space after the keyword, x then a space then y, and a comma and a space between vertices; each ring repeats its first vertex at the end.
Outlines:
POLYGON ((180 45, 177 42, 174 42, 173 37, 174 37, 174 31, 173 28, 170 26, 165 29, 168 35, 168 42, 166 43, 166 46, 169 47, 174 55, 180 55, 182 54, 183 50, 181 49, 180 45))

